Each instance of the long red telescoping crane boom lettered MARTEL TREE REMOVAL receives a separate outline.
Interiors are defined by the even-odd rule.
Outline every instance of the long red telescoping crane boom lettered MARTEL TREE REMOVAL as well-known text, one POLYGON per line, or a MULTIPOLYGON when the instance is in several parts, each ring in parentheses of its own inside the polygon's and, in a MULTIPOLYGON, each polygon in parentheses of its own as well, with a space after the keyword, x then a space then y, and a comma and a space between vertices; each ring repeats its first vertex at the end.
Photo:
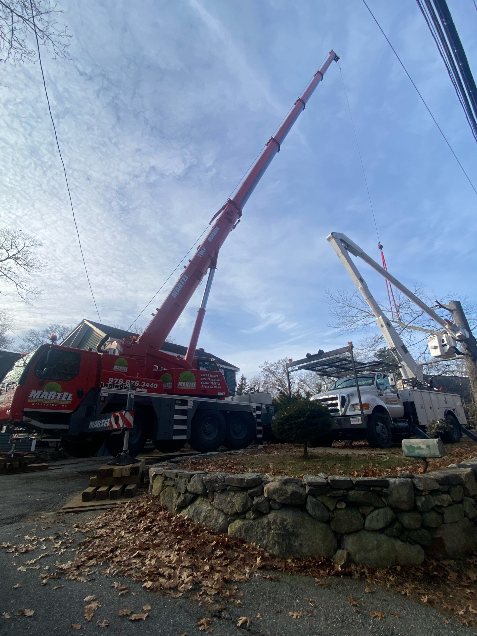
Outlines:
POLYGON ((273 157, 279 153, 280 146, 289 130, 298 119, 301 111, 314 92, 317 85, 323 79, 324 73, 331 62, 337 61, 338 55, 331 50, 321 69, 319 69, 312 81, 308 84, 305 92, 298 97, 294 106, 273 137, 266 143, 265 149, 249 170, 244 181, 240 184, 232 198, 228 199, 225 205, 212 217, 209 225, 212 229, 200 244, 189 264, 184 268, 184 272, 177 280, 172 291, 157 309, 151 322, 149 322, 144 332, 139 336, 138 342, 144 343, 153 349, 160 349, 171 329, 182 314, 192 294, 197 289, 209 267, 214 267, 217 261, 219 249, 225 242, 226 237, 235 228, 242 216, 242 208, 249 199, 254 188, 263 176, 263 173, 272 162, 273 157))

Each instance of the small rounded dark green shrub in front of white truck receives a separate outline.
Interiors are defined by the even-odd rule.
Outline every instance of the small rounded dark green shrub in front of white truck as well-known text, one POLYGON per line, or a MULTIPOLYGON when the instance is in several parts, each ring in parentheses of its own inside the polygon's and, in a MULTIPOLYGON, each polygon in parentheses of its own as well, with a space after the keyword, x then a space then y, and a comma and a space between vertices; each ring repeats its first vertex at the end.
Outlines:
POLYGON ((308 457, 308 443, 331 430, 331 417, 326 406, 303 399, 279 413, 272 430, 279 439, 303 444, 303 457, 308 457))

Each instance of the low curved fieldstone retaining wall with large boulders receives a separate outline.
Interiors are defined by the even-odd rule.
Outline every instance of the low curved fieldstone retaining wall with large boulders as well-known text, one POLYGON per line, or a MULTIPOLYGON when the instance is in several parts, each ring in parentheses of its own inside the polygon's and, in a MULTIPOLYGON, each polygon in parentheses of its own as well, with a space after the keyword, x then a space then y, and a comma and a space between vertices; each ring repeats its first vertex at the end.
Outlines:
MULTIPOLYGON (((195 458, 197 459, 197 458, 195 458)), ((477 548, 477 458, 396 478, 149 469, 165 508, 283 558, 418 565, 477 548)))

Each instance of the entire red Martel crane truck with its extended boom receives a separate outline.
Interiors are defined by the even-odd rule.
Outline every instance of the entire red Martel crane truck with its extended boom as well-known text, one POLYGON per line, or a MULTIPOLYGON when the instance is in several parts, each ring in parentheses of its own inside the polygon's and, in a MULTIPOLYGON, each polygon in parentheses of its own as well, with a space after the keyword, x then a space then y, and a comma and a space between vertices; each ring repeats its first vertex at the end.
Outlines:
POLYGON ((211 231, 144 333, 137 339, 112 343, 107 350, 102 347, 108 336, 97 351, 46 344, 22 357, 0 387, 0 426, 58 435, 75 457, 93 455, 106 440, 107 449, 116 455, 123 446, 123 427, 116 414, 124 412, 132 384, 134 425, 129 431, 129 452, 133 455, 141 452, 147 439, 165 452, 179 450, 187 440, 193 448, 207 452, 223 444, 230 449, 245 448, 253 439, 263 438, 262 419, 272 417, 272 406, 227 399, 228 388, 218 364, 197 368, 194 354, 219 249, 239 223, 242 208, 324 73, 337 60, 330 51, 233 198, 212 218, 211 231), (185 358, 161 351, 207 270, 209 277, 185 358))

